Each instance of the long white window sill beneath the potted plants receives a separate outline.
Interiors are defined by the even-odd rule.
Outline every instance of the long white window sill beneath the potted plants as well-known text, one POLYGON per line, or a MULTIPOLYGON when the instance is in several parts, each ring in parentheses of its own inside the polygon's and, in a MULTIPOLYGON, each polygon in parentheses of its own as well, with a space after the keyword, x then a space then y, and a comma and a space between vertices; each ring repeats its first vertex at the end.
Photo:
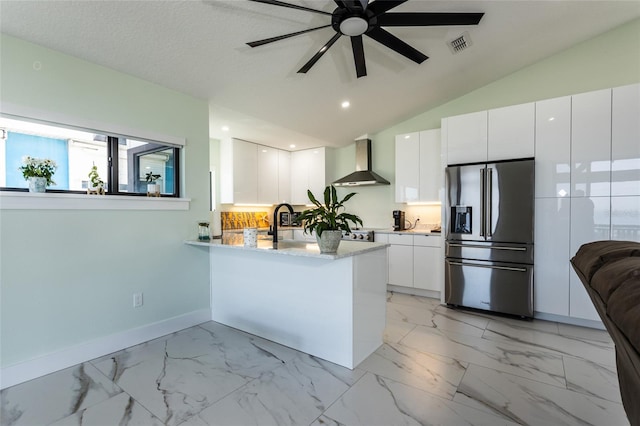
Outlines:
POLYGON ((190 198, 0 191, 0 210, 189 210, 190 198))

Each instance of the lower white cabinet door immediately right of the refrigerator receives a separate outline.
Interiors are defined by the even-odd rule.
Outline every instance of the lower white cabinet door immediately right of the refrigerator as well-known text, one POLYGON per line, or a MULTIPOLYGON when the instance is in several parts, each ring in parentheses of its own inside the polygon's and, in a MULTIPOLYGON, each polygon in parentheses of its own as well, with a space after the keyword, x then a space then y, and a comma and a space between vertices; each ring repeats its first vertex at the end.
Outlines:
POLYGON ((570 199, 537 198, 535 207, 534 310, 569 315, 570 199))

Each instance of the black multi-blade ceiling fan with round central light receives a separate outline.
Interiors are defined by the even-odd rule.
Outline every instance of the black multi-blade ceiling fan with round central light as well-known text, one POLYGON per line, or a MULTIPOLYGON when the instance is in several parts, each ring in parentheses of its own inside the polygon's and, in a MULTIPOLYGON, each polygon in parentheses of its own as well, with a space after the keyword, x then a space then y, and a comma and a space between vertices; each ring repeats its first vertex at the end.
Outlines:
POLYGON ((299 73, 306 73, 318 62, 327 50, 341 36, 351 37, 351 48, 353 49, 353 59, 356 65, 356 75, 358 78, 367 75, 367 67, 364 59, 364 47, 362 36, 366 35, 378 43, 387 46, 389 49, 405 56, 412 61, 421 64, 428 59, 428 56, 409 46, 393 34, 382 27, 428 27, 442 25, 477 25, 484 13, 430 13, 430 12, 396 12, 388 13, 389 10, 401 5, 407 0, 334 0, 338 6, 333 13, 323 10, 312 9, 297 4, 285 3, 279 0, 250 0, 257 3, 266 3, 274 6, 286 7, 290 9, 306 10, 308 12, 319 13, 331 16, 331 24, 320 27, 309 28, 307 30, 296 31, 277 37, 264 40, 257 40, 247 43, 251 47, 258 47, 274 41, 284 40, 289 37, 316 31, 322 28, 333 27, 336 34, 304 64, 299 73))

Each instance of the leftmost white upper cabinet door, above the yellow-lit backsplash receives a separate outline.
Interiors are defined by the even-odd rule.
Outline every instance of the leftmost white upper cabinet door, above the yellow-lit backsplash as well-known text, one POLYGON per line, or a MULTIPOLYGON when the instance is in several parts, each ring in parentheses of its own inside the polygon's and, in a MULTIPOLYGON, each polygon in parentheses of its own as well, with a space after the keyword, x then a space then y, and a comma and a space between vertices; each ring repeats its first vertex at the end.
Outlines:
POLYGON ((258 150, 255 144, 233 140, 233 203, 258 201, 258 150))

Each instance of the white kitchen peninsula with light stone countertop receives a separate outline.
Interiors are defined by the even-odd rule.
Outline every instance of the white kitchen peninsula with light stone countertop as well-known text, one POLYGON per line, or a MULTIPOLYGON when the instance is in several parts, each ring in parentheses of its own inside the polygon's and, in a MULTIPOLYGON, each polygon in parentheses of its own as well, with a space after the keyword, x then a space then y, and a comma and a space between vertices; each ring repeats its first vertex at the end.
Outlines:
POLYGON ((244 247, 241 235, 187 241, 209 248, 212 320, 347 368, 382 344, 387 244, 318 245, 269 240, 244 247))

